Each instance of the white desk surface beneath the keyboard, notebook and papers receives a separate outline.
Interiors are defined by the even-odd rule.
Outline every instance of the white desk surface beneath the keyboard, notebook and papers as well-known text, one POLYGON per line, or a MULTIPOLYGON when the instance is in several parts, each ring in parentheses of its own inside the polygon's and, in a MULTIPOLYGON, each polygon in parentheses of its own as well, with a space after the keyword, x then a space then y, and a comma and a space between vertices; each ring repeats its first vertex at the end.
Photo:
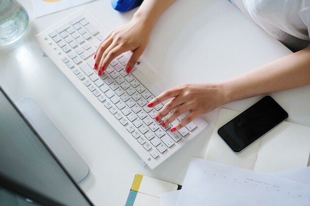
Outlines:
MULTIPOLYGON (((31 1, 20 1, 31 15, 31 1)), ((32 18, 25 41, 15 49, 0 51, 0 85, 14 101, 31 96, 89 165, 90 174, 80 185, 95 205, 123 206, 136 173, 182 184, 191 157, 204 156, 218 108, 203 116, 211 125, 190 144, 153 171, 142 167, 136 153, 52 61, 42 57, 32 40, 85 6, 32 18)), ((135 11, 118 13, 110 0, 87 6, 108 30, 128 22, 135 11)), ((185 82, 222 81, 289 53, 227 0, 177 0, 160 17, 142 59, 160 77, 155 83, 164 90, 185 82)), ((310 86, 304 86, 271 96, 289 113, 288 121, 310 126, 309 94, 310 86)), ((242 111, 260 98, 223 107, 242 111)))

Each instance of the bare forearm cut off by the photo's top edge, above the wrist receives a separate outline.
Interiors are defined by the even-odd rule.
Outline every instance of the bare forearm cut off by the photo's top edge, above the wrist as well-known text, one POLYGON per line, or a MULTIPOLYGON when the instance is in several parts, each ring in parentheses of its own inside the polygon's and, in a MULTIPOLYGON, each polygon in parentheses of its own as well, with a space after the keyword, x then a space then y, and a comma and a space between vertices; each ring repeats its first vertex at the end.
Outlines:
POLYGON ((144 0, 140 8, 134 14, 133 20, 138 20, 152 30, 159 16, 175 0, 144 0))

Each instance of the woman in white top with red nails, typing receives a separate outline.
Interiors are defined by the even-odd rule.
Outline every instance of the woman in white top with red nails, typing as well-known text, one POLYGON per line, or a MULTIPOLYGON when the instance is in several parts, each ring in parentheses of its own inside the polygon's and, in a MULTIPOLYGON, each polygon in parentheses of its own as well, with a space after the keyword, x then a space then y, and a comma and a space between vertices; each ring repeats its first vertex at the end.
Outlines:
MULTIPOLYGON (((148 105, 154 107, 173 98, 158 111, 156 121, 173 110, 162 122, 164 126, 189 112, 171 131, 223 104, 310 83, 310 0, 229 1, 268 34, 296 52, 224 82, 183 84, 164 91, 148 105)), ((98 69, 98 74, 102 75, 116 56, 131 50, 133 53, 125 68, 129 73, 147 46, 155 22, 173 2, 144 0, 129 23, 107 35, 95 55, 94 68, 98 69)))

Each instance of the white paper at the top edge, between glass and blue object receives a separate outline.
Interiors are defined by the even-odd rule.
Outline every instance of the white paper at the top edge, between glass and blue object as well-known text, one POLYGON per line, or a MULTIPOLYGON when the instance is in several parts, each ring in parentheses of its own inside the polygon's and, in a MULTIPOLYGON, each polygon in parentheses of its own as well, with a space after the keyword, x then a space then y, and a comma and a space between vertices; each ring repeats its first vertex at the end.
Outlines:
POLYGON ((93 0, 32 0, 36 18, 61 11, 93 0))

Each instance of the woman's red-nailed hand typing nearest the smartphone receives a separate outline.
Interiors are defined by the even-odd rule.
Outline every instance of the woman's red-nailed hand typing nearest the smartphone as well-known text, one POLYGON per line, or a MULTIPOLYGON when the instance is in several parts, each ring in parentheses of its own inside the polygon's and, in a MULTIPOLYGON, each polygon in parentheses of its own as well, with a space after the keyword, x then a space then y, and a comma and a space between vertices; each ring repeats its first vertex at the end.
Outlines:
POLYGON ((148 104, 148 107, 154 107, 167 99, 173 98, 158 111, 155 121, 160 121, 173 110, 162 122, 161 125, 165 126, 172 123, 180 115, 189 112, 180 123, 170 129, 170 131, 176 131, 189 124, 195 118, 224 104, 225 95, 222 88, 221 84, 215 83, 179 85, 162 92, 148 104))

